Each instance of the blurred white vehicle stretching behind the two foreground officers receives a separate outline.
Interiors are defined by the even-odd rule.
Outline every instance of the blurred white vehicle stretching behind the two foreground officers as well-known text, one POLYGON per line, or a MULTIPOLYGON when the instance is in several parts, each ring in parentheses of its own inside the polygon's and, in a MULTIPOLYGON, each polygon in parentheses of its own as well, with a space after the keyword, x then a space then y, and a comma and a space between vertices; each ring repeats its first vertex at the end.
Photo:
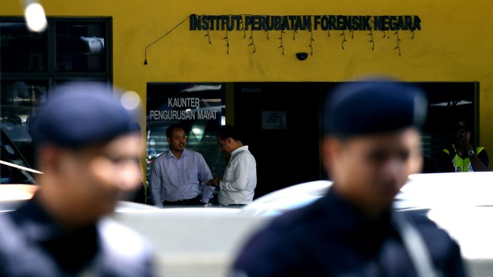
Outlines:
MULTIPOLYGON (((493 172, 414 174, 394 208, 427 215, 460 245, 469 276, 493 272, 493 172)), ((242 209, 129 209, 116 219, 147 236, 160 276, 226 276, 236 252, 273 217, 323 196, 331 181, 302 183, 262 196, 242 209)))

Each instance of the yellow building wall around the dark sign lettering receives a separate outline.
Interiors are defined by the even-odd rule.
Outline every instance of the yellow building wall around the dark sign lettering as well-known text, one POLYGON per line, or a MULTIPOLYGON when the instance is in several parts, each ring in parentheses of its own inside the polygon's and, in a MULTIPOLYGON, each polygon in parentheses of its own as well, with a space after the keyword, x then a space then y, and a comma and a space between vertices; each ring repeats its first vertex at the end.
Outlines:
MULTIPOLYGON (((488 1, 203 1, 203 0, 45 0, 48 16, 112 16, 114 84, 144 96, 149 81, 343 81, 359 75, 385 74, 405 81, 479 81, 480 144, 493 149, 493 31, 488 1), (279 31, 254 31, 257 51, 249 47, 249 34, 229 33, 229 55, 224 31, 189 31, 188 20, 166 38, 144 48, 173 29, 190 14, 268 15, 418 15, 422 30, 411 39, 409 31, 396 36, 375 33, 371 50, 367 31, 346 32, 342 50, 341 31, 314 32, 314 55, 304 62, 295 53, 309 53, 309 33, 300 31, 292 40, 286 31, 285 55, 279 47, 279 31)), ((22 15, 21 1, 1 0, 0 15, 22 15)), ((493 150, 490 150, 492 152, 493 150)))

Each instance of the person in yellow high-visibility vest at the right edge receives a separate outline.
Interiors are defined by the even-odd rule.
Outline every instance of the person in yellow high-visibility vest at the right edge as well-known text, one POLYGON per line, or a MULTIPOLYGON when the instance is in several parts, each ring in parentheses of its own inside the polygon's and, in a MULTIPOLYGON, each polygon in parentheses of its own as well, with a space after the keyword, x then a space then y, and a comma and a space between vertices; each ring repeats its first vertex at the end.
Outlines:
POLYGON ((454 143, 442 153, 442 172, 488 171, 488 153, 484 147, 473 147, 470 144, 470 135, 468 124, 459 120, 453 133, 454 143))

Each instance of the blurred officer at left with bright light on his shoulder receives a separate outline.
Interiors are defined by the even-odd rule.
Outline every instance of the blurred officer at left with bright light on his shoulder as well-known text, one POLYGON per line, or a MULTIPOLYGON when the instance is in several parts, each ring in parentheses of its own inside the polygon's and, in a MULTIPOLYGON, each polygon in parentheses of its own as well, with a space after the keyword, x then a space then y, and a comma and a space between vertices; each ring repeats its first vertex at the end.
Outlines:
POLYGON ((131 112, 98 85, 57 91, 29 125, 40 189, 0 217, 0 276, 152 276, 151 250, 104 217, 140 184, 131 112))

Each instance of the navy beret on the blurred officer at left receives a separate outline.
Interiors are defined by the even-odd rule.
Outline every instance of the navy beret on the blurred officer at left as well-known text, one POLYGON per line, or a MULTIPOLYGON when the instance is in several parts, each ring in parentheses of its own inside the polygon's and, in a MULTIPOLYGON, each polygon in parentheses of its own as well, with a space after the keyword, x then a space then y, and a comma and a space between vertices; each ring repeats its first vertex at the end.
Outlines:
POLYGON ((79 148, 108 142, 135 131, 131 110, 106 85, 71 83, 60 87, 29 122, 36 146, 50 143, 79 148))

